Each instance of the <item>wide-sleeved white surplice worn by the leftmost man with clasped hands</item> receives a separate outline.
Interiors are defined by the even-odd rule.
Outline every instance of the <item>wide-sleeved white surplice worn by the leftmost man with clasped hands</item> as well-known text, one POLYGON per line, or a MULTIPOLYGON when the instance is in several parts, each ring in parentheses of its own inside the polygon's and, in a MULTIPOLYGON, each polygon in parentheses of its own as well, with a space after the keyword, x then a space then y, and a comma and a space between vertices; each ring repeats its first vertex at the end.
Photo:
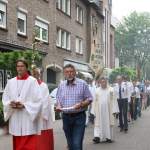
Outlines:
POLYGON ((39 113, 42 101, 38 82, 29 76, 26 80, 17 77, 8 80, 3 93, 4 119, 9 120, 9 133, 14 136, 37 134, 41 130, 39 113), (20 101, 25 108, 13 109, 11 101, 20 101))

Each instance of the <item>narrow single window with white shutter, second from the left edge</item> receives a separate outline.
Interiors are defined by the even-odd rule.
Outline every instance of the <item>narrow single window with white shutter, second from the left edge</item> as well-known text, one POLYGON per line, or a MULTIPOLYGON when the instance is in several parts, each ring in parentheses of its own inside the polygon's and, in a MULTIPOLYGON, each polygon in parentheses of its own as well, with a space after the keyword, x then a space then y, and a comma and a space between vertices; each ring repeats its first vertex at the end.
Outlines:
POLYGON ((26 35, 27 33, 27 15, 24 12, 18 11, 18 33, 26 35))

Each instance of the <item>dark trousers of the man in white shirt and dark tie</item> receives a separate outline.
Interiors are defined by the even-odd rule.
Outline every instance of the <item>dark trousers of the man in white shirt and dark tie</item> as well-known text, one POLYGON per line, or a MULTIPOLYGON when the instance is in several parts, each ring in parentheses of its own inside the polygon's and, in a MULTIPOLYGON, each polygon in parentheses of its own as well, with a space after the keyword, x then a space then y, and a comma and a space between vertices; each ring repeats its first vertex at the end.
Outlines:
POLYGON ((128 119, 127 119, 127 112, 128 112, 128 99, 118 99, 119 105, 119 124, 121 129, 128 129, 128 119))

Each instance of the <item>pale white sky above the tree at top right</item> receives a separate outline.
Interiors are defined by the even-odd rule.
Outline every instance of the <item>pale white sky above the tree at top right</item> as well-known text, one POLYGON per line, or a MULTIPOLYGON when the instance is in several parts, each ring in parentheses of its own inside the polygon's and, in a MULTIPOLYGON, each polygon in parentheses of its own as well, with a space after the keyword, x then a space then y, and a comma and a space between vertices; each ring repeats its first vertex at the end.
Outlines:
POLYGON ((133 11, 150 12, 150 0, 112 0, 113 16, 121 20, 133 11))

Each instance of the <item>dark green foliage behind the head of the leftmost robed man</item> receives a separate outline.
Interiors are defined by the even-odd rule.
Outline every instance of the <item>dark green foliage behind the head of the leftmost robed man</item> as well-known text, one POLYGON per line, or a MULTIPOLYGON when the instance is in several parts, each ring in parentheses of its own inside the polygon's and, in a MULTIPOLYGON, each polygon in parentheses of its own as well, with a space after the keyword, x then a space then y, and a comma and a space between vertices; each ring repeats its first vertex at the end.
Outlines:
POLYGON ((29 64, 29 69, 31 64, 38 64, 41 61, 41 56, 38 52, 32 52, 31 50, 26 51, 12 51, 12 52, 0 52, 0 69, 10 70, 12 76, 16 74, 16 60, 24 58, 29 64))

